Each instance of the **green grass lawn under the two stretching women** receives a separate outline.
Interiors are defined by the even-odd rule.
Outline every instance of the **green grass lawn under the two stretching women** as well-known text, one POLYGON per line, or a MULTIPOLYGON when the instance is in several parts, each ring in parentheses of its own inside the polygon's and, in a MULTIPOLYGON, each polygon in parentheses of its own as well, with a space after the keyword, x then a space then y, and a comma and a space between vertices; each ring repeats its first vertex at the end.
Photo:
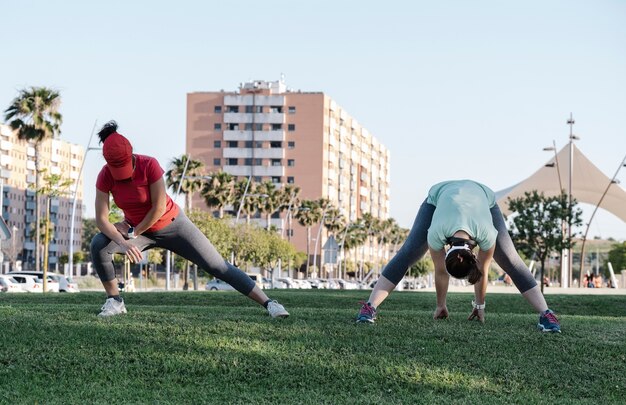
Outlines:
POLYGON ((231 292, 0 295, 4 404, 624 403, 626 297, 548 296, 563 333, 542 334, 520 295, 396 292, 356 325, 368 291, 270 291, 271 319, 231 292))

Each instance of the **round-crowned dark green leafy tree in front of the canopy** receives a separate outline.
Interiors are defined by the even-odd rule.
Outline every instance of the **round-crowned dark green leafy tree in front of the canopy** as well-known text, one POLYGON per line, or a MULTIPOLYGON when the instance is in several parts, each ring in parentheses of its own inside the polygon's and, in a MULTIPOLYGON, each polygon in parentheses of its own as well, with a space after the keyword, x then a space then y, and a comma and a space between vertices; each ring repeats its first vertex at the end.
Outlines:
POLYGON ((582 224, 582 210, 574 209, 576 200, 572 199, 571 205, 568 205, 567 200, 565 193, 558 197, 545 197, 536 190, 525 192, 523 197, 509 199, 509 210, 516 214, 513 216, 511 238, 521 252, 539 260, 542 292, 548 255, 574 245, 573 237, 576 233, 572 233, 572 238, 569 238, 563 232, 566 229, 563 223, 572 227, 582 224))

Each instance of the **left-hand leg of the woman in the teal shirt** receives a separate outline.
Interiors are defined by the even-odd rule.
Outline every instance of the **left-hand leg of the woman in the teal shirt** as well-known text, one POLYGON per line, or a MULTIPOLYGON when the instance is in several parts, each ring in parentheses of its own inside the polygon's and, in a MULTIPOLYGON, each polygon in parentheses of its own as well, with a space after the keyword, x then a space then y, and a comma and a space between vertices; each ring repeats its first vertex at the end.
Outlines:
POLYGON ((409 267, 421 259, 428 250, 428 228, 433 219, 435 206, 424 201, 420 206, 409 236, 398 253, 387 263, 381 277, 370 294, 369 303, 380 305, 402 280, 409 267))

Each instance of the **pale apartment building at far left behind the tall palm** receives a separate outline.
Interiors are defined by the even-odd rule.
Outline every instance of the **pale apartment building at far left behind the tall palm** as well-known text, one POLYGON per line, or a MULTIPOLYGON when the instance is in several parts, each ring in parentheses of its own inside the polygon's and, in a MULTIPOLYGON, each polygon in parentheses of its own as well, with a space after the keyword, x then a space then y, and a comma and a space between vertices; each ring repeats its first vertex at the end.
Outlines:
MULTIPOLYGON (((77 190, 77 204, 73 244, 74 251, 80 251, 83 181, 79 179, 79 174, 84 148, 60 139, 48 139, 39 146, 39 159, 40 170, 45 169, 40 178, 55 174, 72 181, 59 197, 50 201, 50 222, 54 227, 49 245, 49 264, 51 268, 55 268, 58 266, 59 256, 69 252, 74 190, 77 190)), ((35 145, 18 139, 10 127, 0 125, 0 206, 2 217, 13 234, 11 240, 2 242, 2 252, 4 263, 13 265, 18 261, 24 268, 35 266, 35 174, 35 145)), ((45 213, 46 198, 42 196, 42 220, 45 213)), ((40 257, 43 258, 43 252, 40 257)), ((5 264, 2 270, 6 267, 5 264)))

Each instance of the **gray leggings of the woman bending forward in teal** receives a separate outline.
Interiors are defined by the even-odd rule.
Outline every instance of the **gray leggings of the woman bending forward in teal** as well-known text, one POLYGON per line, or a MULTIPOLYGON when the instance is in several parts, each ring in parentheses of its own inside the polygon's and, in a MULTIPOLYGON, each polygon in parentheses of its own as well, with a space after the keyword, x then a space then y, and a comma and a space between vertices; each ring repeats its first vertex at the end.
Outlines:
MULTIPOLYGON (((428 228, 430 228, 435 208, 434 205, 428 204, 426 201, 422 203, 409 236, 398 253, 385 266, 383 276, 392 283, 398 284, 409 267, 426 254, 428 250, 428 228)), ((502 267, 502 270, 511 277, 517 289, 524 293, 535 287, 537 282, 517 253, 511 236, 506 229, 504 216, 497 204, 491 208, 491 218, 494 227, 498 231, 493 258, 502 267)))

